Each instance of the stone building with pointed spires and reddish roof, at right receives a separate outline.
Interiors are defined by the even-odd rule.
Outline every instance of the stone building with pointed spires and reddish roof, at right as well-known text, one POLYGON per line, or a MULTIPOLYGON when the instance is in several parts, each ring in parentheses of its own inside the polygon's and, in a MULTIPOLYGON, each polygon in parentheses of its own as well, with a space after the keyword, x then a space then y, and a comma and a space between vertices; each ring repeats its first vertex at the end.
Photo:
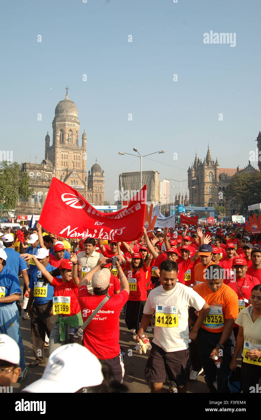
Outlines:
POLYGON ((236 173, 256 172, 250 161, 243 169, 219 168, 219 163, 211 157, 207 150, 204 160, 199 160, 197 154, 194 163, 188 168, 189 202, 198 207, 224 206, 225 214, 231 216, 240 211, 241 203, 227 200, 223 197, 227 186, 236 173), (193 179, 195 178, 195 179, 193 179))

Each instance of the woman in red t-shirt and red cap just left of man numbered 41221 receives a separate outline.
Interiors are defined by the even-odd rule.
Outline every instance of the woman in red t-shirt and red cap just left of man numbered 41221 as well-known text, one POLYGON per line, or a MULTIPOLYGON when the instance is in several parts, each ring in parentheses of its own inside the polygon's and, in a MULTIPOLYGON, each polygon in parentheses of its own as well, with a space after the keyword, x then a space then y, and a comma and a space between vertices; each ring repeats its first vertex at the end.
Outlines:
POLYGON ((130 286, 130 294, 125 308, 125 323, 129 330, 139 329, 143 308, 147 300, 148 268, 151 260, 143 260, 141 252, 134 252, 131 262, 125 262, 125 273, 130 286))

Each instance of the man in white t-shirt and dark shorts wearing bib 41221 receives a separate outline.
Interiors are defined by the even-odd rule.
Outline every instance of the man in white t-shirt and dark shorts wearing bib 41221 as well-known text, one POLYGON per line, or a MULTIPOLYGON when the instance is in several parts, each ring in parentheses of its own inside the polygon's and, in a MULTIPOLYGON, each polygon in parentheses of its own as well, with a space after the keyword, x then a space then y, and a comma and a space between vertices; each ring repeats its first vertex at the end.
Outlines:
MULTIPOLYGON (((198 330, 209 312, 209 305, 192 288, 177 282, 176 262, 163 261, 159 267, 161 286, 152 290, 143 310, 136 336, 141 339, 155 312, 154 339, 145 368, 151 392, 161 392, 166 373, 177 385, 177 392, 186 392, 190 375, 189 339, 196 339, 198 330), (188 307, 201 311, 191 331, 188 329, 188 307)), ((171 389, 175 388, 173 385, 171 389)))

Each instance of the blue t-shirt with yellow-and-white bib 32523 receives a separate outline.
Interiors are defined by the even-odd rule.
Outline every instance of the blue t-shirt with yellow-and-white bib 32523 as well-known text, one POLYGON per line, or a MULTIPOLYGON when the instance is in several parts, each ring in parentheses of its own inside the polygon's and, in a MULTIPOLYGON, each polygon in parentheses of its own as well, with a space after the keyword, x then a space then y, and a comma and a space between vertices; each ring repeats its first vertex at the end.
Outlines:
MULTIPOLYGON (((47 271, 53 271, 56 270, 55 267, 53 267, 51 264, 47 264, 45 267, 47 271)), ((62 276, 59 276, 61 278, 62 276)), ((47 285, 43 286, 42 281, 42 273, 38 268, 35 268, 33 272, 31 273, 30 283, 29 283, 29 289, 34 290, 34 287, 36 287, 36 290, 34 291, 34 300, 37 304, 43 305, 44 303, 50 302, 53 297, 54 288, 50 285, 50 283, 47 281, 47 285)))

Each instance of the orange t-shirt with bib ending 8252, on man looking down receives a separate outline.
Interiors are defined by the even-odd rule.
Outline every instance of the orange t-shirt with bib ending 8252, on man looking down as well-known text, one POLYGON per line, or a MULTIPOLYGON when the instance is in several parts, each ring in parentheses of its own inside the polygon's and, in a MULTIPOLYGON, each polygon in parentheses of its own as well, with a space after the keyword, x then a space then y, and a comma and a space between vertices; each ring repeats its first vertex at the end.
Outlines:
POLYGON ((209 304, 210 310, 206 316, 201 328, 211 333, 220 333, 223 331, 226 319, 237 318, 238 316, 238 296, 231 287, 223 283, 216 292, 211 291, 206 282, 196 284, 193 287, 206 303, 209 304))

